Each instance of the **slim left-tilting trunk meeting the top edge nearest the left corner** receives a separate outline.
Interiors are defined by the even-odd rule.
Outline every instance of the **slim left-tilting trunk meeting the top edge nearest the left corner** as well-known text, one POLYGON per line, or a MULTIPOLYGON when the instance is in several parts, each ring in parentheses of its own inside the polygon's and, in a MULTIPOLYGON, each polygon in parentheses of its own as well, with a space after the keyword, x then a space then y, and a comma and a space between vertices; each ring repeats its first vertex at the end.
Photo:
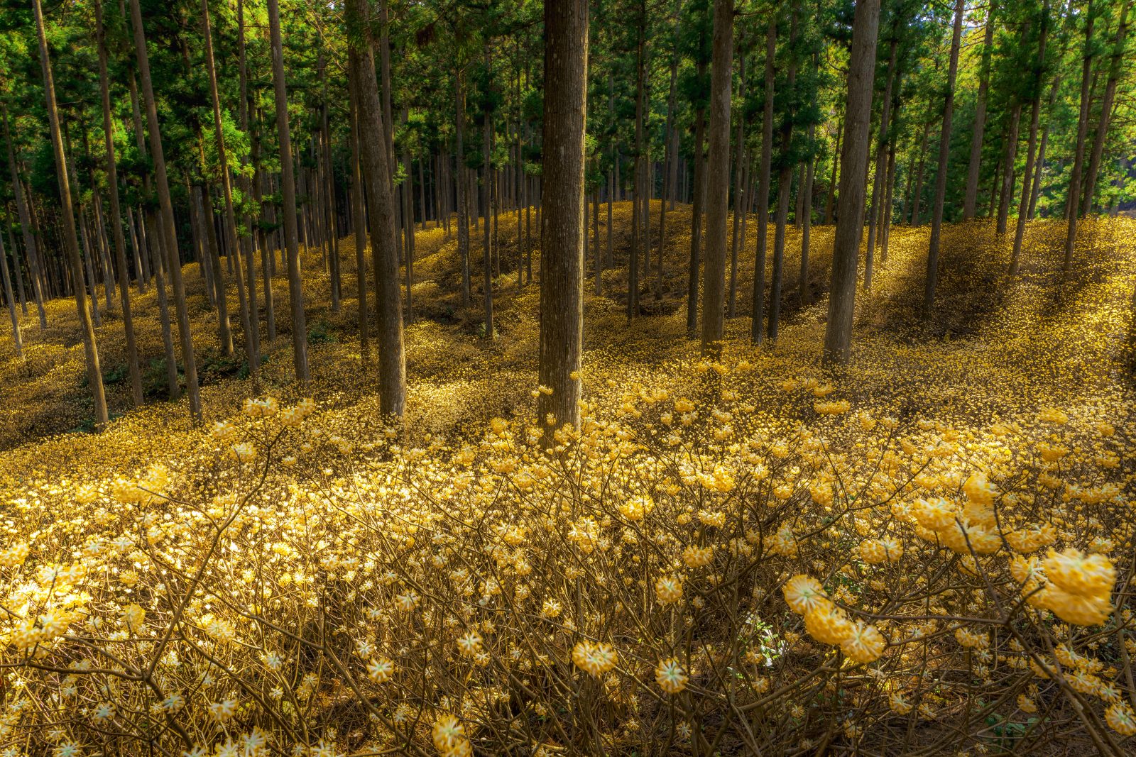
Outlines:
POLYGON ((91 387, 91 396, 94 399, 94 421, 95 426, 101 429, 109 420, 107 396, 102 389, 102 370, 99 367, 99 348, 94 342, 94 326, 91 323, 91 314, 86 306, 86 293, 83 291, 83 264, 78 259, 78 241, 75 238, 70 178, 67 174, 67 157, 64 154, 59 112, 56 109, 56 85, 51 76, 51 61, 48 59, 48 36, 43 27, 43 10, 40 8, 40 0, 32 0, 32 10, 35 14, 35 28, 40 37, 40 64, 43 68, 43 90, 51 127, 51 146, 56 155, 56 178, 59 182, 59 208, 62 213, 65 250, 70 263, 72 277, 75 279, 75 309, 78 311, 80 334, 83 338, 83 353, 86 359, 86 378, 91 387))

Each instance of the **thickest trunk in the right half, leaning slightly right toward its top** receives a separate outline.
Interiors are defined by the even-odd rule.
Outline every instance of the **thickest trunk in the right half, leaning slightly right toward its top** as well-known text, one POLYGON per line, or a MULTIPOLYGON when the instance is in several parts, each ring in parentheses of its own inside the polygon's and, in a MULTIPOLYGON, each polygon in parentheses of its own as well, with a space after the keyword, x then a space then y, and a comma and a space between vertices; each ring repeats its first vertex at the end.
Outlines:
POLYGON ((844 109, 844 151, 833 243, 833 283, 825 328, 825 362, 846 363, 852 351, 855 270, 863 234, 863 190, 868 178, 868 138, 875 78, 879 0, 858 0, 849 57, 847 106, 844 109))

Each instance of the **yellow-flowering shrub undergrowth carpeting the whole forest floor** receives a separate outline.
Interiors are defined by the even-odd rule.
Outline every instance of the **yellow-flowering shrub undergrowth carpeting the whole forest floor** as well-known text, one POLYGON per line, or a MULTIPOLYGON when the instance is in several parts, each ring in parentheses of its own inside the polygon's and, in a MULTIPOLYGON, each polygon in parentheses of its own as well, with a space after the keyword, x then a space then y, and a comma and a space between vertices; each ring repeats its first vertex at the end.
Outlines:
MULTIPOLYGON (((126 411, 114 312, 100 434, 73 302, 24 320, 23 360, 0 335, 2 754, 1131 754, 1136 221, 1085 221, 1071 275, 1064 226, 1031 222, 1012 280, 1011 239, 947 226, 928 321, 928 229, 894 227, 836 372, 830 227, 816 302, 791 228, 779 338, 736 318, 719 361, 686 338, 688 230, 630 322, 619 252, 602 295, 585 281, 584 420, 550 451, 517 228, 493 342, 456 242, 418 233, 403 424, 318 250, 312 381, 290 381, 278 306, 259 392, 199 355, 200 426, 160 363, 126 411)), ((629 203, 613 232, 626 250, 629 203)), ((160 355, 152 289, 134 302, 160 355)))

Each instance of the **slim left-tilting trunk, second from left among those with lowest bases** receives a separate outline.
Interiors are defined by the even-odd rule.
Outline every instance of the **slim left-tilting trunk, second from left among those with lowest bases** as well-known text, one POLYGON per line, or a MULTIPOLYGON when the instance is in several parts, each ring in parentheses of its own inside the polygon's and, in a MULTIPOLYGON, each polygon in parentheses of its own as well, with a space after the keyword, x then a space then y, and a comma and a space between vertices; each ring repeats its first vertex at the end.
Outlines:
POLYGON ((158 182, 158 202, 161 207, 161 228, 165 234, 166 268, 174 288, 174 305, 177 311, 177 333, 182 346, 182 367, 185 371, 185 389, 190 395, 190 414, 201 418, 201 392, 198 387, 198 364, 193 355, 193 336, 190 333, 190 314, 185 304, 185 284, 182 281, 182 261, 177 252, 177 234, 174 220, 174 204, 169 196, 169 180, 166 174, 166 154, 161 148, 161 132, 158 127, 158 106, 153 98, 150 78, 150 57, 145 49, 145 31, 142 27, 142 10, 139 0, 131 0, 131 20, 134 24, 134 49, 137 56, 139 74, 142 77, 142 95, 145 100, 147 121, 150 133, 150 157, 158 182))

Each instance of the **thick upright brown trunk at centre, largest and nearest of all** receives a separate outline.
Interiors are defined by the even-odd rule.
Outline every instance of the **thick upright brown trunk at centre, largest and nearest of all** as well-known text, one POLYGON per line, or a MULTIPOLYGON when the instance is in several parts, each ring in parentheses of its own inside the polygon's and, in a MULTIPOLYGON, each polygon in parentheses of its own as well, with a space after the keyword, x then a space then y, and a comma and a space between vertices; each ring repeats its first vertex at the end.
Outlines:
POLYGON ((541 215, 541 358, 537 417, 545 448, 579 426, 584 334, 584 131, 587 113, 587 0, 544 6, 544 176, 541 215))

